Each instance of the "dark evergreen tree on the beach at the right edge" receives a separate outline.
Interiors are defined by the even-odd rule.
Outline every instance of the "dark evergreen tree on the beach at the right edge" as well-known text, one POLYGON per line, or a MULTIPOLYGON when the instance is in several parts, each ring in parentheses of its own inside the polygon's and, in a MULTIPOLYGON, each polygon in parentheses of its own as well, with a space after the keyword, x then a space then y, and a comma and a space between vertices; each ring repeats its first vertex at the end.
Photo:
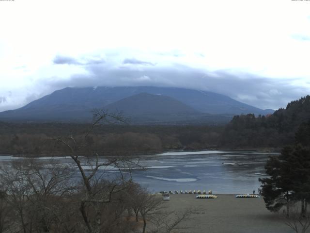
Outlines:
POLYGON ((276 212, 285 205, 289 214, 290 204, 301 201, 301 214, 305 214, 310 203, 310 148, 297 141, 271 157, 265 168, 270 178, 259 181, 267 209, 276 212))

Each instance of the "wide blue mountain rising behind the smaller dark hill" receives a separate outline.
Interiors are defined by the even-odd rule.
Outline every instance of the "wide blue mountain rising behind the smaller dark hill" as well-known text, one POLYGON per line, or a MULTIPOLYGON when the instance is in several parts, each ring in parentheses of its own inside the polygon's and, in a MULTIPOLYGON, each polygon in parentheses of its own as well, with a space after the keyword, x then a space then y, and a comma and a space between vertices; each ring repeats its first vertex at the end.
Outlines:
MULTIPOLYGON (((119 100, 148 93, 156 96, 173 98, 197 112, 205 114, 247 114, 256 115, 272 113, 245 103, 233 100, 213 92, 172 87, 85 87, 64 88, 57 90, 41 99, 34 100, 26 106, 0 113, 0 119, 6 120, 85 120, 91 119, 93 108, 103 108, 119 100)), ((169 101, 168 101, 169 102, 169 101)), ((180 104, 179 104, 180 105, 180 104)), ((157 111, 161 111, 156 107, 157 111)), ((113 105, 110 106, 111 108, 113 105)), ((163 106, 162 106, 163 108, 163 106)), ((171 106, 169 107, 171 108, 171 106)), ((138 108, 135 109, 138 111, 138 108)), ((145 108, 141 108, 145 111, 145 108)))

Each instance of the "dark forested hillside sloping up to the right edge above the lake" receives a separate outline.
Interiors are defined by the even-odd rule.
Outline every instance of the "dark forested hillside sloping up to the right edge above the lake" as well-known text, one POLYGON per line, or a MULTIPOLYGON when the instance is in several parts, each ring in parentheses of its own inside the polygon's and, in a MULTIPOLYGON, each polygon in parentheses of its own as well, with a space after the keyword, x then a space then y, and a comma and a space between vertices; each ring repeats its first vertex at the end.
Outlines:
POLYGON ((269 116, 234 116, 225 127, 220 145, 231 148, 282 147, 292 144, 298 128, 309 120, 310 96, 306 96, 269 116))

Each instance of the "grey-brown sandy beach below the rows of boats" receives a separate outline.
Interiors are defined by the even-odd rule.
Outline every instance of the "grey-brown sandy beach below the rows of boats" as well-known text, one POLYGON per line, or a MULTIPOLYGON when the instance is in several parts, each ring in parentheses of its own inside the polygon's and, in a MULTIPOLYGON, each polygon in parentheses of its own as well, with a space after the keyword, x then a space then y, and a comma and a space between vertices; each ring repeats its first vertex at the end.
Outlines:
POLYGON ((280 214, 269 212, 263 198, 235 198, 216 194, 217 199, 196 199, 196 194, 174 194, 165 205, 169 210, 197 207, 201 210, 186 222, 188 233, 292 233, 280 214))

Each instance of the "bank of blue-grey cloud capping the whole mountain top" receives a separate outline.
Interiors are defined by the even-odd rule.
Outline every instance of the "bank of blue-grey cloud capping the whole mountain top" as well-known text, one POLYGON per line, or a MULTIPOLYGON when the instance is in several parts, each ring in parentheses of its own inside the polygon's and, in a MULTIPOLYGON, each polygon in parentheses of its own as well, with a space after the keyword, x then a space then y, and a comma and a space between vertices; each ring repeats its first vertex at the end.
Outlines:
MULTIPOLYGON (((152 60, 142 60, 123 58, 122 55, 109 57, 104 52, 102 54, 104 59, 93 58, 90 55, 89 58, 55 56, 49 69, 53 72, 62 72, 65 69, 73 72, 69 72, 67 77, 54 74, 51 77, 38 77, 34 82, 29 82, 27 90, 24 90, 26 97, 24 100, 16 98, 14 102, 13 91, 8 92, 7 96, 2 94, 0 110, 22 106, 64 87, 138 85, 183 87, 228 95, 262 109, 284 107, 283 104, 288 101, 309 94, 309 83, 301 85, 299 83, 303 80, 299 78, 271 79, 231 69, 207 70, 203 67, 190 67, 178 63, 178 57, 175 56, 170 63, 167 60, 162 63, 161 59, 154 59, 158 55, 153 55, 152 60)), ((159 56, 167 59, 165 55, 159 56)))

